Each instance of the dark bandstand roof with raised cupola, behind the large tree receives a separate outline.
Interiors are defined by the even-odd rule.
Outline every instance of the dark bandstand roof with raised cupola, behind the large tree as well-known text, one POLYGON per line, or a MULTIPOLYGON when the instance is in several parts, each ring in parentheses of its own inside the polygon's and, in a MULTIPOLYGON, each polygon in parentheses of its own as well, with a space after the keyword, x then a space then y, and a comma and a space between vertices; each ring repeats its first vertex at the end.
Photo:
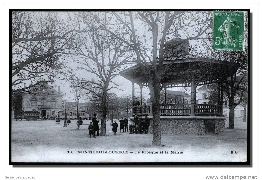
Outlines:
MULTIPOLYGON (((189 54, 189 42, 180 38, 165 43, 164 61, 161 64, 163 71, 161 84, 183 84, 191 86, 214 83, 220 77, 229 77, 239 65, 228 61, 220 61, 189 54)), ((153 61, 142 62, 120 72, 120 76, 137 84, 150 82, 148 71, 154 71, 153 61), (153 64, 153 65, 152 65, 153 64), (146 71, 145 71, 146 70, 146 71)), ((157 68, 159 61, 155 62, 157 68)), ((154 72, 152 72, 154 73, 154 72)))

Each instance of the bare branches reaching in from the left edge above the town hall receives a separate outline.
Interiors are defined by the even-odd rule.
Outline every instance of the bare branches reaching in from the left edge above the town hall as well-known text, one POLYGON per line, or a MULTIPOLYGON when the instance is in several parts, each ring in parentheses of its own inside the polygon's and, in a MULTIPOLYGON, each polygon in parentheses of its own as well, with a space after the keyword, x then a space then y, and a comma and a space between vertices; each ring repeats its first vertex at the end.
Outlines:
POLYGON ((61 12, 12 12, 12 92, 52 82, 70 56, 73 31, 74 22, 61 12))

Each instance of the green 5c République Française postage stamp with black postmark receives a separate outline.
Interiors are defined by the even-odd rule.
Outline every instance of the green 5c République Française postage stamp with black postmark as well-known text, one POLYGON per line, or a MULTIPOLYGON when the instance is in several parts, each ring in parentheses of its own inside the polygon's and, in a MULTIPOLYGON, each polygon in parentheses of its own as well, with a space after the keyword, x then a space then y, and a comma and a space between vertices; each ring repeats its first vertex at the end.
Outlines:
POLYGON ((244 11, 213 11, 213 48, 244 49, 244 11))

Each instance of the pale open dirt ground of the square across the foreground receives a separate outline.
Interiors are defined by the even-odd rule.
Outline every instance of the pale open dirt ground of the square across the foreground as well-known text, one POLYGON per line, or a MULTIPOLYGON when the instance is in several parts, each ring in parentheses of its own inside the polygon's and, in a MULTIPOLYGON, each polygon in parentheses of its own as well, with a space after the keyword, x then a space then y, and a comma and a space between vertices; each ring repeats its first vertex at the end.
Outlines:
POLYGON ((226 129, 226 133, 219 135, 163 134, 162 146, 154 148, 152 134, 120 133, 118 129, 117 135, 113 135, 112 126, 107 124, 106 136, 89 138, 89 121, 83 123, 81 131, 76 131, 74 120, 66 128, 63 122, 56 125, 51 120, 12 121, 12 161, 242 162, 247 159, 246 129, 226 129))

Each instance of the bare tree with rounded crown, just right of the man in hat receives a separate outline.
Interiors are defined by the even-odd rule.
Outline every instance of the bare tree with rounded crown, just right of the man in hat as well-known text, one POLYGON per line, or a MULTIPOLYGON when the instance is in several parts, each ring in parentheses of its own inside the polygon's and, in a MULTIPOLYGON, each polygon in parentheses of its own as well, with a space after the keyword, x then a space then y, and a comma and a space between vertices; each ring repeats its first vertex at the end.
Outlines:
POLYGON ((131 57, 129 48, 119 39, 99 30, 80 33, 76 37, 74 51, 79 58, 73 62, 77 64, 76 70, 80 70, 81 75, 71 73, 71 79, 77 79, 78 87, 101 98, 101 135, 105 135, 107 94, 112 88, 121 90, 114 78, 131 57), (91 87, 100 89, 101 93, 95 92, 91 87))

